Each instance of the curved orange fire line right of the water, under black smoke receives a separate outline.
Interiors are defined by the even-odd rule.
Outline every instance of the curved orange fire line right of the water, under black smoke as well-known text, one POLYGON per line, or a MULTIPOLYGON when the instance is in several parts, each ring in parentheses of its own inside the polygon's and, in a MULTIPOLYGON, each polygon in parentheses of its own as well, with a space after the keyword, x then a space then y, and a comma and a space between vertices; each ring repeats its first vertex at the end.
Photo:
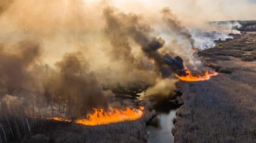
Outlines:
POLYGON ((193 82, 193 81, 206 81, 206 80, 209 80, 212 76, 218 75, 217 72, 209 71, 209 70, 205 72, 205 75, 195 75, 195 76, 193 76, 189 70, 186 70, 185 72, 187 73, 186 76, 178 76, 176 74, 176 77, 178 77, 182 81, 193 82))

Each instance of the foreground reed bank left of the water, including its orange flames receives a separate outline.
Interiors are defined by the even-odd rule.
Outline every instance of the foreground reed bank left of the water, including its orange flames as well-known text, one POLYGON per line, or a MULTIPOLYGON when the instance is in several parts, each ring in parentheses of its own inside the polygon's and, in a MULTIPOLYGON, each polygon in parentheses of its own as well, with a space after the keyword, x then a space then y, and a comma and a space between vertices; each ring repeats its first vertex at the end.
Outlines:
MULTIPOLYGON (((1 116, 1 142, 26 143, 41 140, 58 143, 87 142, 146 142, 146 122, 155 115, 149 101, 135 103, 139 109, 96 110, 87 120, 70 120, 58 117, 29 118, 23 114, 11 116, 12 112, 1 116), (101 136, 100 138, 98 136, 101 136)), ((2 113, 2 112, 1 112, 2 113)), ((45 143, 45 142, 44 142, 45 143)))

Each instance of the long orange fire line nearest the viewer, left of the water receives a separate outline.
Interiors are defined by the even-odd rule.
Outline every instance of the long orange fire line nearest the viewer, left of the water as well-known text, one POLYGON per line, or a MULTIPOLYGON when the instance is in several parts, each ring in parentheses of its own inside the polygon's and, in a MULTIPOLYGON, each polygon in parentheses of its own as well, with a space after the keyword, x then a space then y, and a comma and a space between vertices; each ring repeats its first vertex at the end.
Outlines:
MULTIPOLYGON (((104 112, 103 109, 94 109, 94 113, 89 115, 88 119, 79 119, 75 120, 75 123, 83 124, 83 125, 104 125, 109 123, 116 123, 116 122, 123 122, 123 121, 132 121, 137 120, 142 117, 144 107, 139 107, 139 109, 131 109, 129 107, 126 110, 118 110, 112 109, 112 112, 104 112)), ((58 117, 53 118, 46 118, 50 120, 57 120, 57 121, 65 121, 65 122, 72 122, 69 119, 63 119, 58 117)))

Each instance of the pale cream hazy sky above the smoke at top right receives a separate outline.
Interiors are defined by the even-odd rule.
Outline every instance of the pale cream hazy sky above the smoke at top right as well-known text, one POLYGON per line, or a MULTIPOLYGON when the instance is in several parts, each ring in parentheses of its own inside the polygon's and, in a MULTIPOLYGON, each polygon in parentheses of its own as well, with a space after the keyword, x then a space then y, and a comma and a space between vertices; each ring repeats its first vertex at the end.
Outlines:
MULTIPOLYGON (((208 21, 256 19, 256 0, 113 0, 116 5, 138 5, 147 9, 170 7, 181 19, 194 17, 208 21)), ((136 11, 136 6, 133 10, 136 11)), ((132 9, 132 8, 130 8, 132 9)))

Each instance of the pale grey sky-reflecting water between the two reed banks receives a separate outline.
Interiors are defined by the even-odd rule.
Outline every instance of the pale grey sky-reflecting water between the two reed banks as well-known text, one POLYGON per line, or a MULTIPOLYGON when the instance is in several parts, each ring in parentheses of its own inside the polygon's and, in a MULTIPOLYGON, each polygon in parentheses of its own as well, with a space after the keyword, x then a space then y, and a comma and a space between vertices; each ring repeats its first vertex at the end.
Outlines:
POLYGON ((158 113, 156 117, 148 124, 147 131, 148 143, 173 143, 172 128, 174 126, 172 120, 175 117, 176 110, 170 110, 169 113, 158 113))

